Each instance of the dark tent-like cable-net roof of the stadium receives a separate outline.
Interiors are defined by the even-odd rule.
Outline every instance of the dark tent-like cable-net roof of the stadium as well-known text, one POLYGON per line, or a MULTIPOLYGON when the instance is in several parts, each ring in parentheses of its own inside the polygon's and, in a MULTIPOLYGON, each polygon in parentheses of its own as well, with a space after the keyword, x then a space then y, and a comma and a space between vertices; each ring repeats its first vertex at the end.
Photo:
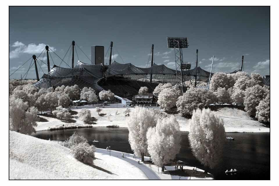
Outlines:
MULTIPOLYGON (((181 76, 180 71, 177 71, 177 73, 178 76, 181 76)), ((104 82, 108 78, 119 81, 145 81, 147 84, 150 81, 151 74, 153 83, 171 83, 173 85, 177 83, 176 70, 170 69, 165 65, 154 64, 149 68, 140 68, 131 63, 120 64, 114 61, 108 67, 103 64, 89 65, 78 61, 74 68, 62 68, 54 65, 51 71, 48 74, 44 74, 40 81, 34 85, 38 88, 78 85, 81 89, 83 87, 92 87, 95 91, 100 91, 103 89, 98 84, 101 80, 104 82)), ((183 71, 183 75, 185 81, 193 80, 196 76, 197 81, 207 83, 210 72, 201 69, 201 67, 195 67, 194 69, 183 71)), ((211 73, 211 76, 213 76, 213 73, 211 73)))

